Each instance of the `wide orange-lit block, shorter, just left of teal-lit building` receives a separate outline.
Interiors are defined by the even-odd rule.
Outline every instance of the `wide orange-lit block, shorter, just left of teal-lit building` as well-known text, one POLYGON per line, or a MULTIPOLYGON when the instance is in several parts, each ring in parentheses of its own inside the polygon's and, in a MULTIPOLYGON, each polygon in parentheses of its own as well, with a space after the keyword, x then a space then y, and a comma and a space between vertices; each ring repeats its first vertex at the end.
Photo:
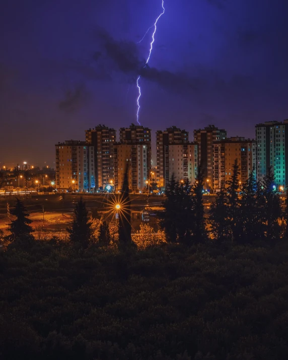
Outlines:
POLYGON ((254 171, 256 169, 256 154, 257 141, 254 139, 250 140, 236 136, 214 141, 213 189, 219 191, 221 188, 228 186, 227 181, 232 178, 235 160, 237 160, 239 165, 239 182, 244 183, 253 172, 253 169, 254 171))

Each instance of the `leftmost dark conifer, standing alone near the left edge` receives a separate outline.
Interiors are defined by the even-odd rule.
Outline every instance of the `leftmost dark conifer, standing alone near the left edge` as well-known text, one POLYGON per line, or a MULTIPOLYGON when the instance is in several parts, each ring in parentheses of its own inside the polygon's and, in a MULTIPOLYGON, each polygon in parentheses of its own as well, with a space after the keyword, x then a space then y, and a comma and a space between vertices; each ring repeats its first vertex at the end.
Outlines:
POLYGON ((31 244, 34 240, 33 229, 29 225, 32 223, 29 213, 26 212, 23 202, 16 198, 16 206, 11 210, 11 214, 16 216, 9 225, 12 241, 21 241, 24 244, 31 244))

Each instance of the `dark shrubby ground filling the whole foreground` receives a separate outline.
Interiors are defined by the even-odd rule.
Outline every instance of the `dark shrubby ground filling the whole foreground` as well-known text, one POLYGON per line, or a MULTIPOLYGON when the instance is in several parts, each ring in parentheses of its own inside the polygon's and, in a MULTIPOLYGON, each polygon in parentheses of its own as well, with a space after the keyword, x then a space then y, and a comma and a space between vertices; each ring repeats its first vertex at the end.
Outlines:
POLYGON ((284 359, 288 246, 119 252, 37 242, 0 263, 0 357, 284 359))

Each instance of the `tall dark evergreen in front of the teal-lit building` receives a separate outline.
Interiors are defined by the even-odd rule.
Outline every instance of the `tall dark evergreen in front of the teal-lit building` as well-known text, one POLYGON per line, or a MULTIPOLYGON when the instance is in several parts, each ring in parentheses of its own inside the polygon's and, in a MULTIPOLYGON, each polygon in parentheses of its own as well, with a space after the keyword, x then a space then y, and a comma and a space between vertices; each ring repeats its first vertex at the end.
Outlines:
POLYGON ((267 239, 279 239, 281 228, 278 220, 282 216, 279 195, 276 192, 275 178, 271 167, 263 178, 263 223, 267 239))

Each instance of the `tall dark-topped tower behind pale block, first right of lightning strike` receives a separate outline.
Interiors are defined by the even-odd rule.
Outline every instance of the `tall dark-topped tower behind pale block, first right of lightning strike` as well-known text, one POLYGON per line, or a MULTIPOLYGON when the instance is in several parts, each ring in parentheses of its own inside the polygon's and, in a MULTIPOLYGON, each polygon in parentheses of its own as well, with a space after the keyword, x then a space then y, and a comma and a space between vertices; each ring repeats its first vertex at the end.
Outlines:
MULTIPOLYGON (((176 147, 175 149, 173 148, 173 146, 177 146, 179 145, 180 148, 181 146, 184 145, 188 145, 189 143, 189 133, 186 130, 181 130, 179 129, 177 126, 171 126, 168 127, 166 130, 162 131, 162 130, 158 130, 156 131, 156 151, 157 151, 157 185, 160 187, 165 187, 167 184, 169 184, 169 180, 171 178, 172 172, 171 169, 172 167, 174 168, 174 164, 171 164, 170 159, 174 159, 173 157, 171 158, 169 156, 169 154, 171 154, 171 152, 177 152, 178 154, 178 148, 176 147), (176 150, 177 149, 177 150, 176 150), (173 165, 173 166, 172 166, 173 165)), ((180 151, 180 149, 179 149, 180 151)), ((186 149, 182 149, 181 152, 184 154, 186 152, 186 149)), ((188 152, 188 150, 187 150, 188 152)), ((190 155, 190 154, 189 154, 190 155)), ((179 154, 180 157, 180 154, 179 154)), ((182 163, 182 161, 180 161, 180 158, 177 159, 179 161, 177 161, 177 164, 182 163)), ((172 160, 173 162, 173 160, 172 160)), ((186 160, 185 160, 186 163, 186 160)), ((176 163, 175 163, 176 164, 176 163)), ((176 166, 175 166, 176 168, 176 166)), ((184 166, 182 166, 182 168, 184 168, 184 166)), ((186 165, 185 165, 186 168, 186 165)), ((178 171, 178 167, 177 167, 177 171, 178 171)), ((179 171, 180 171, 180 165, 179 165, 179 171)), ((186 173, 185 173, 186 175, 186 173)), ((179 175, 180 176, 180 175, 179 175)), ((188 177, 188 174, 187 174, 188 177)))

